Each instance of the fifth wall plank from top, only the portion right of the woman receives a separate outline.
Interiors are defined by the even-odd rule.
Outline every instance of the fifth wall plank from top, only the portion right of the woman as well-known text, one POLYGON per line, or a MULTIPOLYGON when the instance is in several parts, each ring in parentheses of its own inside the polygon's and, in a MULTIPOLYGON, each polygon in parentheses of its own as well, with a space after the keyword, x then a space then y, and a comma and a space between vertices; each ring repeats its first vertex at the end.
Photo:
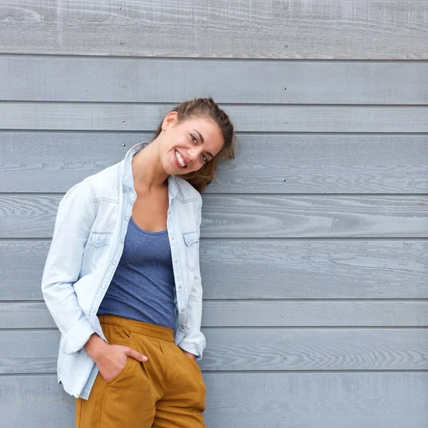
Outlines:
POLYGON ((207 238, 427 235, 424 196, 206 195, 203 201, 207 238))

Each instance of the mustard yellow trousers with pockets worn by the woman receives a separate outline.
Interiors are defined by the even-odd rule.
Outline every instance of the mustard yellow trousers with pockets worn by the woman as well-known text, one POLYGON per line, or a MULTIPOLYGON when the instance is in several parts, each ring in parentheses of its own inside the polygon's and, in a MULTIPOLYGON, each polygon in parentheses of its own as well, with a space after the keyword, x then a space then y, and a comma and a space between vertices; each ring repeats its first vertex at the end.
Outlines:
POLYGON ((99 319, 108 343, 132 347, 148 361, 128 357, 108 382, 98 372, 89 399, 76 399, 76 428, 205 427, 202 373, 175 345, 173 330, 116 315, 99 319))

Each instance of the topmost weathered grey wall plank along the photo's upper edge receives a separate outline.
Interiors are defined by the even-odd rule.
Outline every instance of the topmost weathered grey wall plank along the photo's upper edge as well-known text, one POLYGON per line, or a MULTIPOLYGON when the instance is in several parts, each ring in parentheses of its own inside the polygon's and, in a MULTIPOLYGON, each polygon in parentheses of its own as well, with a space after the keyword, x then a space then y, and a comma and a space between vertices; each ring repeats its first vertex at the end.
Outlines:
POLYGON ((143 0, 76 6, 29 0, 13 5, 0 9, 2 53, 428 58, 426 1, 143 0))

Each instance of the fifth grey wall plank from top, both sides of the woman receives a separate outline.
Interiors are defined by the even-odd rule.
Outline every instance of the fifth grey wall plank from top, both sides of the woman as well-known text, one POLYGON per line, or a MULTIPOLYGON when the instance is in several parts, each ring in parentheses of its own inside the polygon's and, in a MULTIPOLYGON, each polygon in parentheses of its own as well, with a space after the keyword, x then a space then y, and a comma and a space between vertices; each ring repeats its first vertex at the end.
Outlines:
MULTIPOLYGON (((0 195, 0 238, 51 238, 61 195, 0 195)), ((203 238, 427 237, 428 198, 204 195, 203 238)))

